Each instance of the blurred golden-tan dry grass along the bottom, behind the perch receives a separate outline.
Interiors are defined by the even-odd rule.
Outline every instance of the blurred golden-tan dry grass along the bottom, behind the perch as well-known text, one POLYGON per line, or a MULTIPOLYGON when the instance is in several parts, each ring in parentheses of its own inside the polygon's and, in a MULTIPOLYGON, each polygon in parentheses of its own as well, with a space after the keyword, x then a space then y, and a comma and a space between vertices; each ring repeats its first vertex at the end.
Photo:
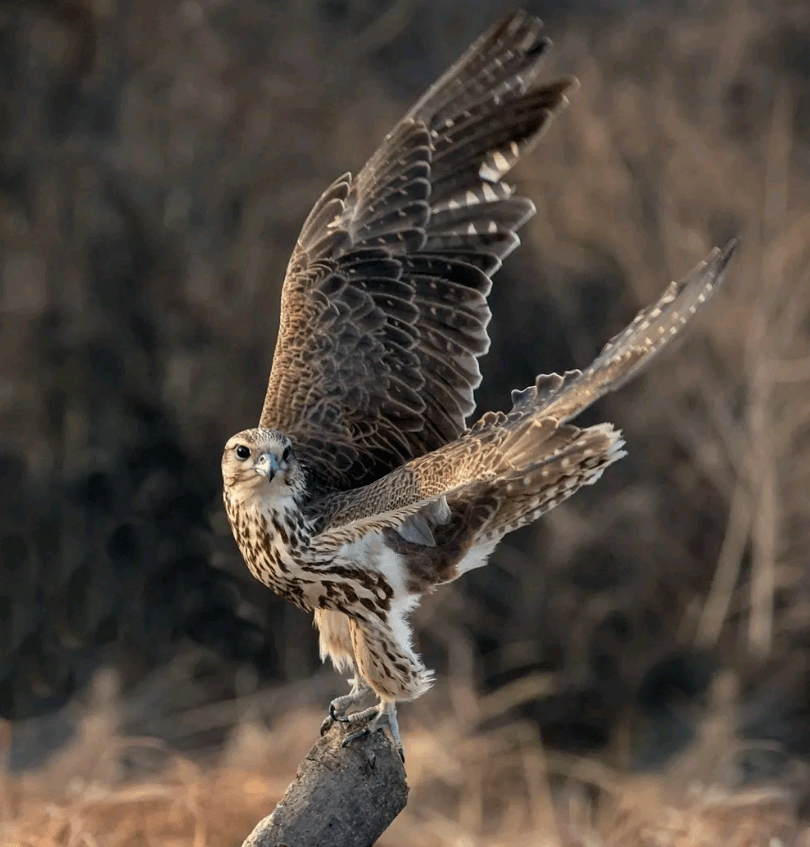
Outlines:
MULTIPOLYGON (((735 788, 728 682, 698 743, 656 775, 546 755, 519 726, 483 737, 465 735, 456 718, 411 722, 410 802, 381 847, 810 844, 787 775, 780 786, 735 788)), ((199 762, 120 738, 116 715, 114 703, 91 706, 76 741, 47 768, 6 777, 3 847, 240 845, 281 798, 319 720, 288 714, 272 730, 245 720, 215 761, 199 762)), ((803 776, 797 770, 794 783, 803 776)))

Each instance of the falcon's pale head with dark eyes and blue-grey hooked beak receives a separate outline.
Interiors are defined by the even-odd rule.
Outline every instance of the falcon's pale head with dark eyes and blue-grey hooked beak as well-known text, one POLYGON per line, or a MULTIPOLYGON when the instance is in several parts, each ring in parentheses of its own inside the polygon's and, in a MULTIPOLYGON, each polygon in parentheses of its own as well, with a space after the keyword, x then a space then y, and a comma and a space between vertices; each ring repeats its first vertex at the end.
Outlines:
POLYGON ((286 435, 273 429, 246 429, 228 440, 222 479, 231 497, 283 499, 304 488, 304 475, 286 435))

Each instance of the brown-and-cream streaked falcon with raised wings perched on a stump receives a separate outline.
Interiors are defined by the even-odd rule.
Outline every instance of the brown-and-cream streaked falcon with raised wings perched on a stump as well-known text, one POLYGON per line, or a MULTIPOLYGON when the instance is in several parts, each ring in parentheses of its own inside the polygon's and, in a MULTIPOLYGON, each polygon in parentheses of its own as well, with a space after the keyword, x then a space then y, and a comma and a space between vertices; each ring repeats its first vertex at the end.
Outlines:
POLYGON ((387 726, 402 753, 396 704, 432 682, 411 644, 419 598, 624 455, 613 426, 571 419, 681 332, 733 251, 671 283, 584 371, 538 376, 511 411, 467 425, 491 280, 534 213, 503 178, 576 86, 538 84, 541 26, 518 12, 492 27, 318 200, 284 280, 259 426, 225 445, 250 571, 314 614, 322 657, 352 674, 323 727, 355 724, 344 743, 387 726))

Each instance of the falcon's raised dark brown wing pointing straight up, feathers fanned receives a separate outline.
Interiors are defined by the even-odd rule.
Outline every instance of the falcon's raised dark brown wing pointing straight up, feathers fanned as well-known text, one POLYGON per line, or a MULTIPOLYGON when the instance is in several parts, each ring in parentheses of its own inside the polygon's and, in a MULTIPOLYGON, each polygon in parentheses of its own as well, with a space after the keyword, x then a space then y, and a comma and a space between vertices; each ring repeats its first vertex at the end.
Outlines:
POLYGON ((517 13, 482 36, 304 224, 260 426, 326 490, 452 441, 474 409, 490 280, 534 213, 501 179, 575 85, 534 85, 541 26, 517 13))

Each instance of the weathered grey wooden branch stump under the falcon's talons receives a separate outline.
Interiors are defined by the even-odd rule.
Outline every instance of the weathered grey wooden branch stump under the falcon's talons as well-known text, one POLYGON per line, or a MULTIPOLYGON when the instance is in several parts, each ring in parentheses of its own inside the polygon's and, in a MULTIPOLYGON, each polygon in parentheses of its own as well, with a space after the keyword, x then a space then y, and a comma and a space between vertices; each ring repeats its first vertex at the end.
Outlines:
POLYGON ((275 811, 242 847, 371 847, 408 802, 405 768, 381 732, 341 741, 333 727, 307 753, 275 811))

